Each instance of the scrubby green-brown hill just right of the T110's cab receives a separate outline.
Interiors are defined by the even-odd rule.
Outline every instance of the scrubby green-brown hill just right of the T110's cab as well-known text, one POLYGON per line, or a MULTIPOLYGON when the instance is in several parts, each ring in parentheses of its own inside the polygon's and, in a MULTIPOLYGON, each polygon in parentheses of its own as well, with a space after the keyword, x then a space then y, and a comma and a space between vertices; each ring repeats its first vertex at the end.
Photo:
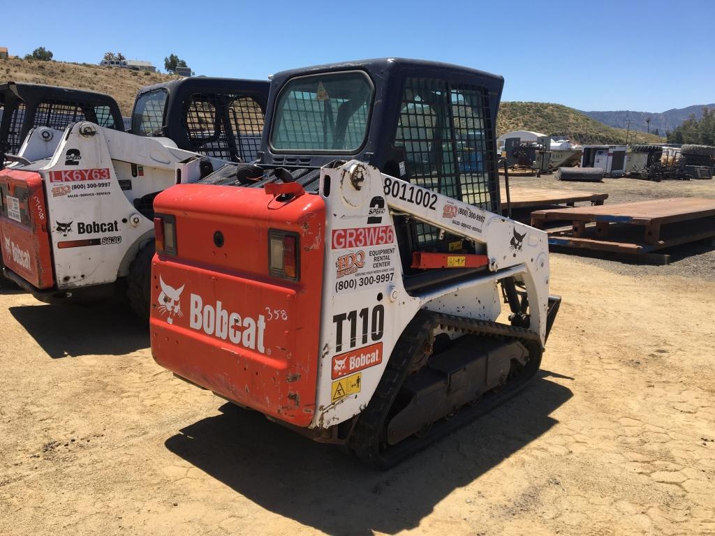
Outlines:
MULTIPOLYGON (((616 144, 626 141, 626 130, 606 126, 563 104, 547 102, 503 102, 497 118, 498 135, 512 130, 531 130, 543 134, 563 134, 581 144, 616 144)), ((663 137, 634 132, 629 143, 661 143, 663 137)))

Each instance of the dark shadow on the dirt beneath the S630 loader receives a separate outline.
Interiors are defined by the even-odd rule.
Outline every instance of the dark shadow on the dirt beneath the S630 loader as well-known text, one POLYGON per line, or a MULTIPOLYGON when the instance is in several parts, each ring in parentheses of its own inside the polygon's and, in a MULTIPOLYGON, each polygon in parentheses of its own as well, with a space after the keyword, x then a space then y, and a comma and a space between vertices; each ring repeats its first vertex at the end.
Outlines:
POLYGON ((52 359, 149 347, 149 327, 124 304, 37 304, 9 307, 9 312, 52 359))

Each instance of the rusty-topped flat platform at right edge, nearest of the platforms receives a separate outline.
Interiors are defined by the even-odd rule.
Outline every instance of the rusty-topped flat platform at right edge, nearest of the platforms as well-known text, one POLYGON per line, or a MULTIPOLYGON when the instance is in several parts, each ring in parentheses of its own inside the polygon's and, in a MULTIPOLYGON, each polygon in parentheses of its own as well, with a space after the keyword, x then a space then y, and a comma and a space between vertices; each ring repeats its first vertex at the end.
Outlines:
POLYGON ((541 229, 563 220, 570 220, 571 227, 550 229, 551 246, 648 256, 649 262, 658 262, 652 254, 658 249, 715 237, 715 199, 674 197, 531 213, 531 224, 541 229))

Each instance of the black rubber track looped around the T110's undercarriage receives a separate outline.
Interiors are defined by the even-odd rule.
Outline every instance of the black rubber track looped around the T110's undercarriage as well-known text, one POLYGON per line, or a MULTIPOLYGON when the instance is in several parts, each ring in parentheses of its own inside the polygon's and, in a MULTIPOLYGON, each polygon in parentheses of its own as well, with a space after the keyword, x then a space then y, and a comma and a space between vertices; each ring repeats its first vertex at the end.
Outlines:
POLYGON ((373 398, 370 399, 368 407, 363 410, 355 423, 348 444, 349 450, 361 462, 380 470, 387 470, 516 394, 521 387, 528 383, 529 379, 536 375, 540 364, 541 341, 538 335, 529 329, 428 312, 423 309, 408 324, 398 343, 395 344, 393 354, 390 356, 388 366, 380 379, 378 388, 375 389, 373 398), (450 420, 443 418, 433 423, 432 430, 423 437, 412 436, 398 445, 381 451, 380 443, 383 438, 385 421, 400 387, 408 376, 410 364, 425 352, 432 351, 434 341, 432 332, 435 327, 440 326, 448 330, 458 330, 464 334, 498 338, 508 342, 522 342, 530 355, 523 372, 531 372, 531 374, 528 377, 513 379, 511 387, 507 384, 505 388, 500 389, 498 394, 493 392, 485 394, 483 400, 474 407, 463 406, 458 414, 450 420))

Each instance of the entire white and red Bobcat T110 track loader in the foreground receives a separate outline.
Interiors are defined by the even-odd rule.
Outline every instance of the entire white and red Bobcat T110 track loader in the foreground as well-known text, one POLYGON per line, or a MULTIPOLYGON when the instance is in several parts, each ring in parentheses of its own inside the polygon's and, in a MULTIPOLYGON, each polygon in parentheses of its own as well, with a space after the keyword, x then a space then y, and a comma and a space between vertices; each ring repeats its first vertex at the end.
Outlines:
POLYGON ((390 467, 524 387, 558 311, 546 233, 499 214, 503 79, 380 59, 272 84, 259 162, 155 199, 152 354, 390 467))

